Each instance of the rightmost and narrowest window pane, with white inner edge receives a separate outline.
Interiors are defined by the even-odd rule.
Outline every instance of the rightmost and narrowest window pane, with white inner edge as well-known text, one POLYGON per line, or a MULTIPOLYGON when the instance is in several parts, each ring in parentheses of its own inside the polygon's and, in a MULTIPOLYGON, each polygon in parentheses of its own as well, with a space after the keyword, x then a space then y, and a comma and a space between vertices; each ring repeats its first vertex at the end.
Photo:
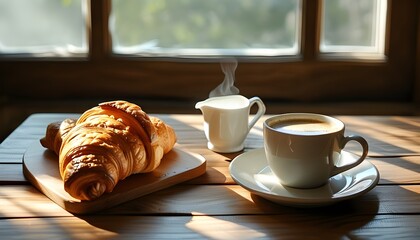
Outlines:
POLYGON ((386 0, 324 0, 321 52, 383 53, 386 0))

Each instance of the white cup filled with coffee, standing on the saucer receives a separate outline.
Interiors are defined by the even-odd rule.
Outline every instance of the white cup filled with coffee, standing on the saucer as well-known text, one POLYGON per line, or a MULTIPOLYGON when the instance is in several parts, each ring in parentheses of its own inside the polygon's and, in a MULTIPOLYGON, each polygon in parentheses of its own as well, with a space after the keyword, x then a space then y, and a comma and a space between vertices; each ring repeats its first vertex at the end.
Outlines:
POLYGON ((367 141, 357 135, 344 136, 342 121, 312 113, 276 115, 264 121, 267 162, 280 183, 295 188, 315 188, 328 179, 360 164, 368 154, 367 141), (356 161, 337 166, 341 150, 349 141, 363 151, 356 161))

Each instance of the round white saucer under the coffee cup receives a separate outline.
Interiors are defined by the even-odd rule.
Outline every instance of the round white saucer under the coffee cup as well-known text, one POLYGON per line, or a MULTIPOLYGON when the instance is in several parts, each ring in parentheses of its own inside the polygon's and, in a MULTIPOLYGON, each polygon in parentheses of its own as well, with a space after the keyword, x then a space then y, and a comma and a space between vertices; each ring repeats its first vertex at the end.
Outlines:
MULTIPOLYGON (((342 151, 341 162, 354 161, 358 156, 342 151)), ((283 186, 272 173, 264 149, 237 156, 230 163, 230 174, 236 183, 270 201, 296 207, 316 207, 360 196, 376 186, 379 172, 365 160, 358 166, 331 177, 324 186, 298 189, 283 186)))

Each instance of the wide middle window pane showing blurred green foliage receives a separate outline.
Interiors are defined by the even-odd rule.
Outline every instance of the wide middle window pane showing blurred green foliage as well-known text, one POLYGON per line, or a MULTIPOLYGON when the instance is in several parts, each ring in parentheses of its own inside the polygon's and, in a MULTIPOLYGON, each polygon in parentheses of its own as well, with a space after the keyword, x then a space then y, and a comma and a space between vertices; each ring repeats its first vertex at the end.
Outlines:
POLYGON ((299 0, 113 0, 116 53, 275 56, 298 53, 299 0))

